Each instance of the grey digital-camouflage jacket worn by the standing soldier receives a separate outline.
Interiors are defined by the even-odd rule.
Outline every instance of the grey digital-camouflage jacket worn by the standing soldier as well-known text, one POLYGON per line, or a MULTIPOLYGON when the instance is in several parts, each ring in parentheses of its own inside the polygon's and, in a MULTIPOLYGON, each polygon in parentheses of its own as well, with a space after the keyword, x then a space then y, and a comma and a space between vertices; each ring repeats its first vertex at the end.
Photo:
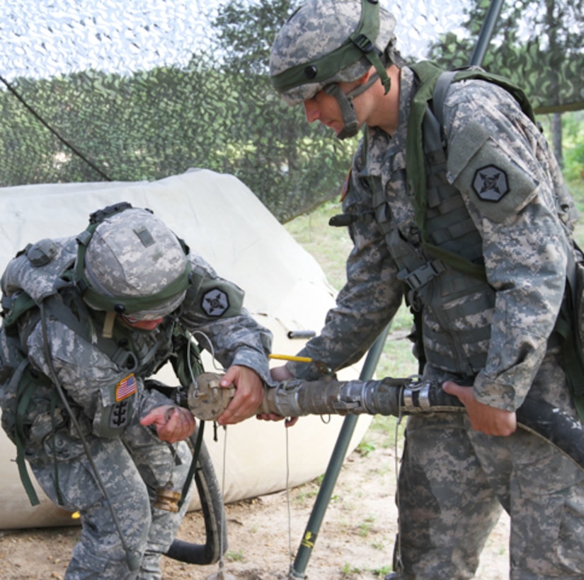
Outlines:
MULTIPOLYGON (((411 70, 402 69, 396 133, 390 138, 370 128, 367 163, 360 151, 355 155, 343 199, 343 211, 359 218, 350 226, 354 248, 348 282, 323 332, 303 352, 332 369, 357 361, 410 291, 403 282, 401 243, 422 253, 406 181, 414 91, 411 70), (370 190, 370 176, 377 192, 370 190)), ((554 328, 576 210, 538 127, 502 88, 484 81, 452 83, 444 124, 447 178, 462 202, 454 210, 448 207, 452 200, 442 202, 442 214, 457 213, 446 224, 450 231, 435 228, 435 243, 482 263, 488 283, 445 265, 445 272, 415 293, 413 301, 423 306, 425 351, 437 369, 474 380, 481 402, 515 410, 554 328), (474 241, 470 232, 478 243, 469 243, 474 241), (461 311, 459 303, 476 300, 476 294, 488 296, 461 311)), ((430 192, 430 210, 440 202, 430 192)), ((289 363, 289 368, 299 376, 316 376, 316 369, 303 364, 289 363)))

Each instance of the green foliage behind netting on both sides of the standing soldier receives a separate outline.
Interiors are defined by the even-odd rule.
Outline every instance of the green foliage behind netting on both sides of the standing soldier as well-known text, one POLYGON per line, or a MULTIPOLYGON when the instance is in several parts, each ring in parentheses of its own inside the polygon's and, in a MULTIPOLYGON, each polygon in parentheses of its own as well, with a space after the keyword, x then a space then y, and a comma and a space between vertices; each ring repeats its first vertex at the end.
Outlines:
MULTIPOLYGON (((525 84, 536 105, 577 105, 584 94, 583 1, 505 5, 485 66, 525 84)), ((0 91, 0 185, 156 180, 209 168, 236 175, 282 222, 335 198, 357 139, 339 141, 307 123, 302 106, 287 107, 270 85, 271 42, 299 3, 219 3, 210 45, 185 66, 16 79, 13 88, 30 108, 0 91)), ((465 2, 464 34, 440 37, 430 57, 466 64, 489 4, 465 2)), ((580 175, 582 155, 582 135, 568 135, 571 179, 580 175)), ((342 283, 343 274, 334 281, 342 283)))

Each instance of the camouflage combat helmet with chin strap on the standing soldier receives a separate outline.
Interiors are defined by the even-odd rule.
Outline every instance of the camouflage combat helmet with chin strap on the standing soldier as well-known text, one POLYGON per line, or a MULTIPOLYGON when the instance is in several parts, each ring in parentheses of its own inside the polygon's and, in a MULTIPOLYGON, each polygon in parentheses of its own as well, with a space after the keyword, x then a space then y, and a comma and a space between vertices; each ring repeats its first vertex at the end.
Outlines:
POLYGON ((403 64, 395 50, 396 19, 379 0, 308 0, 280 29, 270 54, 272 85, 289 105, 321 90, 333 95, 343 114, 340 139, 353 137, 358 125, 353 98, 380 79, 389 91, 386 68, 403 64), (338 82, 356 81, 370 68, 370 81, 345 95, 338 82))

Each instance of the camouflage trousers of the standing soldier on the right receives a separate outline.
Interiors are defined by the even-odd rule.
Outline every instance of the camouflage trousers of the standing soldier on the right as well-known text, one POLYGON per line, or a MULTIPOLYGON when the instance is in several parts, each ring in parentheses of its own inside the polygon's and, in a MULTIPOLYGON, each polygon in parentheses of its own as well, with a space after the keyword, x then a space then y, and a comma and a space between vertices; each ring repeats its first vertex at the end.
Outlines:
MULTIPOLYGON (((546 361, 532 395, 573 413, 564 378, 546 361)), ((502 509, 511 580, 584 577, 584 472, 528 431, 494 437, 466 414, 409 417, 397 497, 403 578, 472 578, 502 509)))

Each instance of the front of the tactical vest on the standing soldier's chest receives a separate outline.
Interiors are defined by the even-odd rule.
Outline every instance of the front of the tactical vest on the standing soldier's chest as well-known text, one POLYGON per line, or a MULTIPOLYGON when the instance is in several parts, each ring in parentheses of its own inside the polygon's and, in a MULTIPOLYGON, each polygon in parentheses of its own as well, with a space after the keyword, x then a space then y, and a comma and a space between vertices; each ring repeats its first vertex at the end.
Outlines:
MULTIPOLYGON (((430 63, 411 68, 418 86, 408 121, 406 175, 408 187, 414 192, 411 199, 416 224, 403 231, 402 224, 391 223, 382 184, 379 178, 370 176, 376 221, 398 267, 398 278, 406 284, 406 302, 416 322, 420 372, 428 361, 438 369, 474 377, 486 363, 495 292, 486 283, 481 267, 479 231, 458 190, 446 179, 447 156, 440 122, 428 107, 442 71, 430 63), (423 140, 418 137, 422 134, 423 140), (412 143, 419 149, 412 151, 412 143), (450 256, 457 264, 449 260, 450 256), (458 262, 465 267, 457 268, 458 262), (479 323, 464 334, 459 332, 459 321, 479 314, 479 323)), ((362 154, 366 158, 365 147, 362 154)))

